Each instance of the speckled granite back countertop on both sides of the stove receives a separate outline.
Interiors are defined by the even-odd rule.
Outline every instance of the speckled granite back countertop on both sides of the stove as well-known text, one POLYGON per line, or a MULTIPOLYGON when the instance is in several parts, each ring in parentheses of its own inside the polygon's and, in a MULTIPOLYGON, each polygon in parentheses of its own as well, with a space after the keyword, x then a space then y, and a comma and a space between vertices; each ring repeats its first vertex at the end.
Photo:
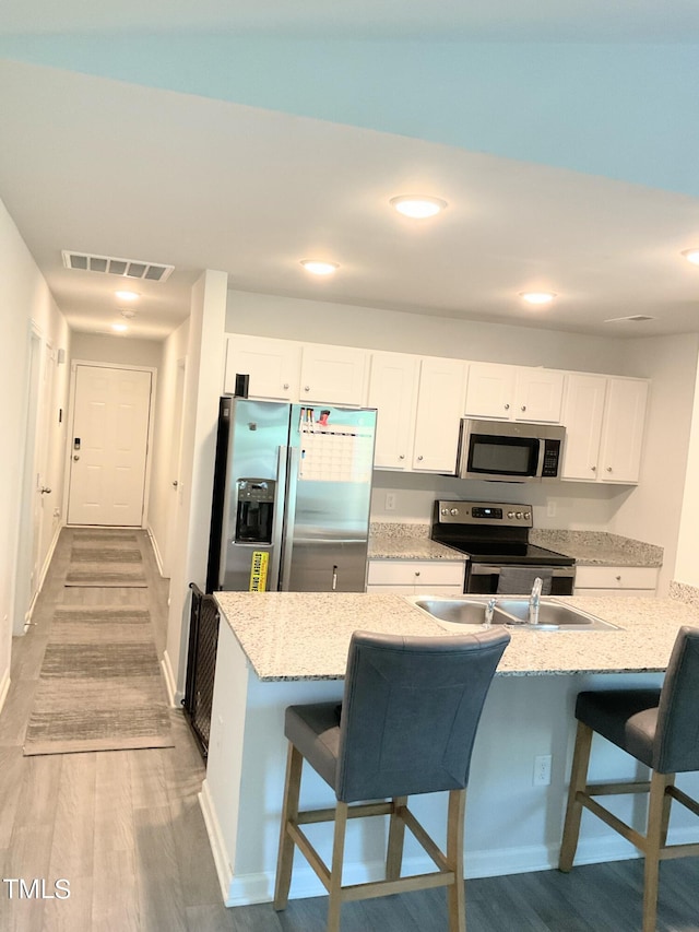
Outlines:
MULTIPOLYGON (((467 556, 443 546, 429 536, 430 526, 372 522, 369 529, 369 559, 454 559, 467 556)), ((663 548, 606 531, 559 531, 533 528, 530 541, 574 558, 578 566, 663 565, 663 548)))

